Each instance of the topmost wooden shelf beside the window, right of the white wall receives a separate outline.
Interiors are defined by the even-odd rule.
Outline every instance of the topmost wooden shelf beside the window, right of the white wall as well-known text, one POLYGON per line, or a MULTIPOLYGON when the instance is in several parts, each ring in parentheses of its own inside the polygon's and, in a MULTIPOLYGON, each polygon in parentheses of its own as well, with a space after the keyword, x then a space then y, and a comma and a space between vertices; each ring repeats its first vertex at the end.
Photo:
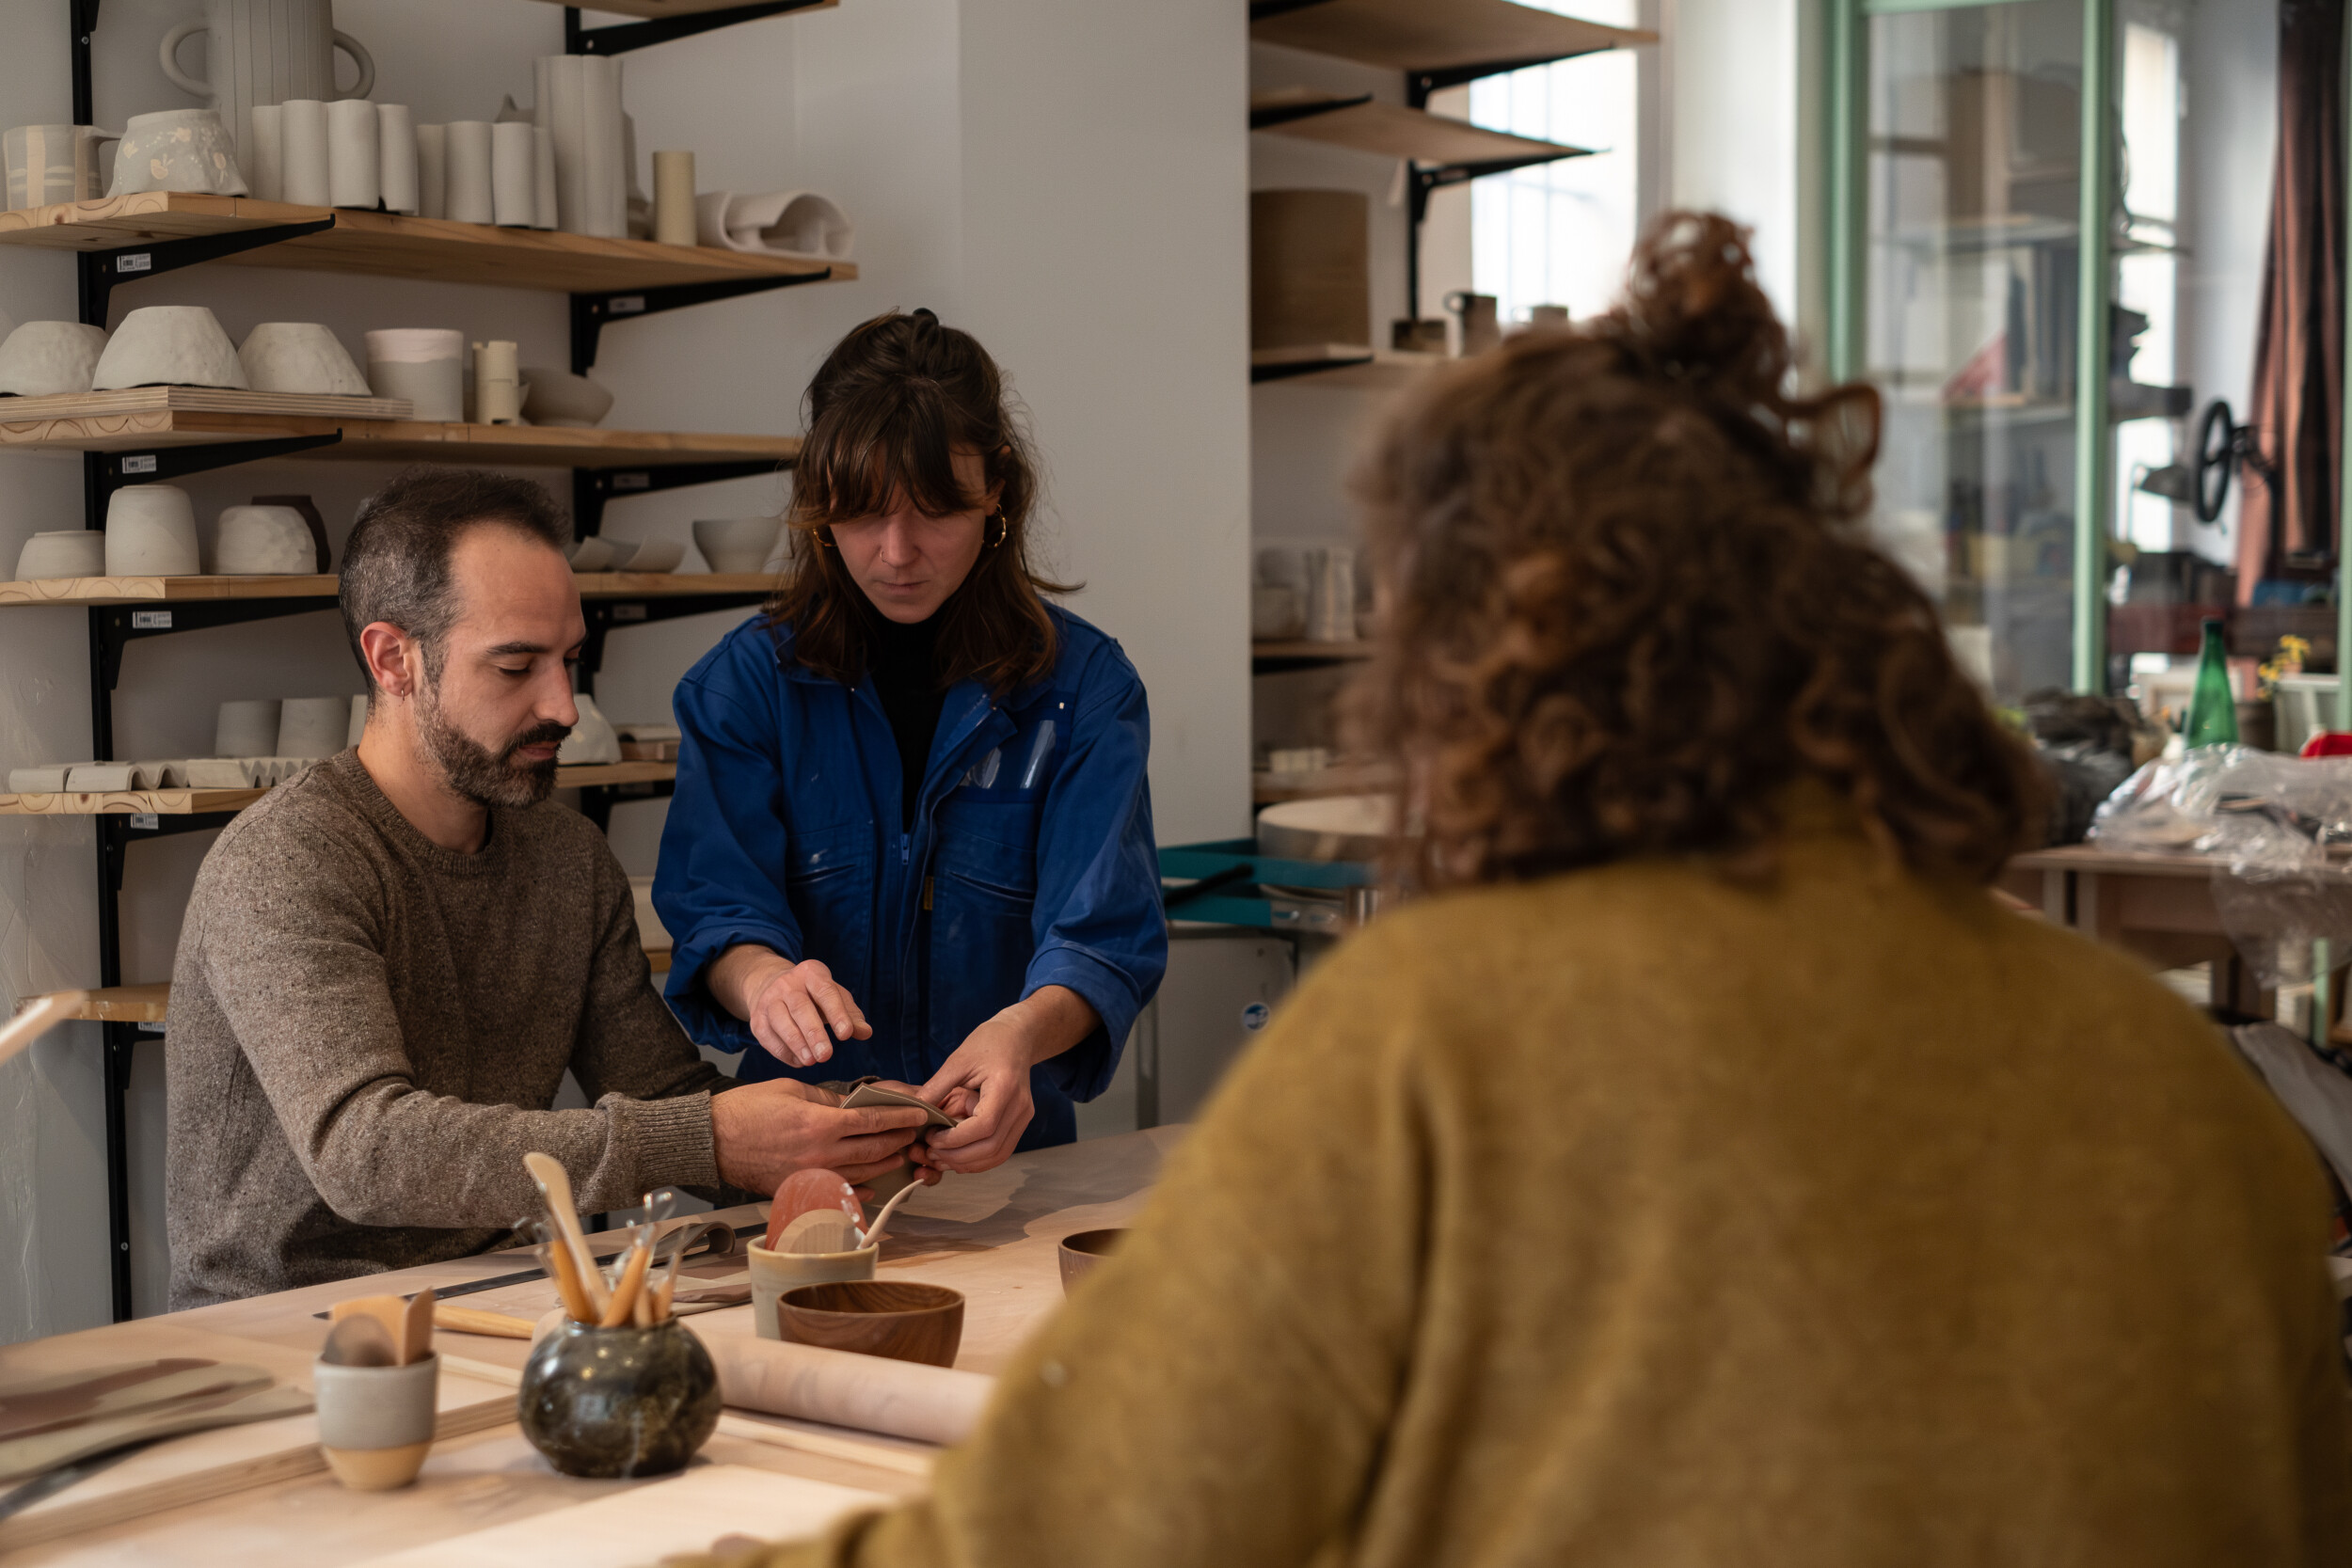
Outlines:
POLYGON ((1604 28, 1510 0, 1319 0, 1251 21, 1249 38, 1392 71, 1555 61, 1658 42, 1656 33, 1604 28))

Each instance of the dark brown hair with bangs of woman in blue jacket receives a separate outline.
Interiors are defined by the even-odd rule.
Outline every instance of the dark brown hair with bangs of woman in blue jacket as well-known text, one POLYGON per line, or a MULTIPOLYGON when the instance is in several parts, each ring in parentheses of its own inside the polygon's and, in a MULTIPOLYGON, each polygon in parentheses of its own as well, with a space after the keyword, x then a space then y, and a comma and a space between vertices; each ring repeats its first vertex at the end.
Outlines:
POLYGON ((1058 639, 1040 595, 1073 590, 1030 564, 1037 458, 988 350, 929 310, 877 315, 826 355, 804 421, 788 517, 800 541, 767 602, 769 618, 793 628, 793 656, 837 682, 866 672, 866 628, 880 611, 826 529, 901 496, 931 517, 969 512, 985 487, 1002 487, 981 524, 981 559, 938 609, 941 684, 978 679, 1002 696, 1047 677, 1058 639), (957 449, 983 454, 978 496, 955 480, 957 449))

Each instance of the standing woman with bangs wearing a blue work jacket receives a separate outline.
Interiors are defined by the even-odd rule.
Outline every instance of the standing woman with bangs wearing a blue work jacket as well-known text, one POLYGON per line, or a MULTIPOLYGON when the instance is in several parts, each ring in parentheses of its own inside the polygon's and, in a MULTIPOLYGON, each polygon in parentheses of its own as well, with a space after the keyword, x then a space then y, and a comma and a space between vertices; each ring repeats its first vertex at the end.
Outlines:
POLYGON ((1075 1138, 1167 969, 1143 682, 1042 597, 969 334, 875 317, 807 404, 793 562, 677 686, 668 997, 743 1079, 915 1086, 962 1119, 920 1159, 985 1171, 1075 1138))

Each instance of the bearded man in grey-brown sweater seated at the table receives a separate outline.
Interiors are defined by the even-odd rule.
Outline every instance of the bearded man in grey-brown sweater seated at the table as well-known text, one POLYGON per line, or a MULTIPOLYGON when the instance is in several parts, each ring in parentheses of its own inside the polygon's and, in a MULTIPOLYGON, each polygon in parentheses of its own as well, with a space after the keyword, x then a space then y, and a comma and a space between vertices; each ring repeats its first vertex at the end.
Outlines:
POLYGON ((586 639, 539 484, 412 470, 360 508, 355 750, 238 816, 172 971, 172 1307, 480 1253, 539 1206, 896 1168, 922 1112, 734 1084, 652 987, 628 877, 548 799, 586 639), (586 1110, 553 1110, 569 1070, 586 1110))

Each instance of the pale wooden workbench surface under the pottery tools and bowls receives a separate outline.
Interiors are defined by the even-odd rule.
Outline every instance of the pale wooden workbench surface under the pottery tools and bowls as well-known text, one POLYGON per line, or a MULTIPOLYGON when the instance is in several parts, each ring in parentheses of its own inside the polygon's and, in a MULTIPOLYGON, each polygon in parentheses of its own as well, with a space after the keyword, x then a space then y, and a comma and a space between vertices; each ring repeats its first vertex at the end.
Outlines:
MULTIPOLYGON (((1056 1258, 1061 1237, 1131 1220, 1157 1180, 1162 1157, 1178 1135, 1181 1128, 1155 1128, 1098 1138, 1061 1150, 1016 1154, 985 1175, 950 1175, 936 1190, 908 1199, 898 1218, 891 1220, 882 1241, 880 1274, 962 1291, 964 1340, 957 1366, 995 1373, 1061 1305, 1056 1258)), ((757 1227, 753 1208, 729 1211, 727 1218, 743 1227, 757 1227)), ((609 1232, 612 1246, 623 1239, 626 1232, 609 1232)), ((602 1251, 604 1239, 590 1241, 602 1251)), ((202 1331, 242 1340, 254 1347, 256 1359, 282 1356, 287 1349, 315 1354, 327 1326, 313 1314, 346 1295, 454 1286, 522 1267, 529 1267, 529 1253, 466 1258, 379 1274, 369 1281, 310 1286, 223 1307, 115 1324, 71 1338, 120 1345, 122 1361, 158 1354, 155 1338, 167 1331, 202 1331)), ((515 1316, 539 1316, 553 1302, 555 1295, 546 1281, 459 1298, 459 1305, 515 1316)), ((753 1333, 750 1307, 710 1312, 687 1321, 706 1338, 753 1333)), ((0 1366, 12 1373, 40 1366, 45 1347, 56 1345, 64 1340, 0 1347, 0 1366)), ((463 1361, 520 1368, 527 1354, 520 1340, 447 1331, 437 1335, 437 1349, 452 1361, 445 1366, 445 1375, 456 1373, 463 1361)), ((743 1410, 729 1410, 727 1418, 696 1465, 743 1465, 882 1495, 908 1495, 924 1486, 922 1472, 931 1450, 922 1443, 743 1410), (748 1432, 760 1436, 746 1436, 748 1432)), ((503 1420, 437 1443, 423 1476, 407 1490, 350 1493, 325 1472, 306 1474, 21 1547, 7 1554, 7 1563, 9 1568, 31 1563, 332 1568, 654 1483, 557 1476, 529 1448, 520 1429, 503 1420)), ((71 1490, 61 1493, 61 1497, 71 1495, 71 1490)), ((703 1544, 708 1540, 680 1540, 675 1549, 703 1544)))

